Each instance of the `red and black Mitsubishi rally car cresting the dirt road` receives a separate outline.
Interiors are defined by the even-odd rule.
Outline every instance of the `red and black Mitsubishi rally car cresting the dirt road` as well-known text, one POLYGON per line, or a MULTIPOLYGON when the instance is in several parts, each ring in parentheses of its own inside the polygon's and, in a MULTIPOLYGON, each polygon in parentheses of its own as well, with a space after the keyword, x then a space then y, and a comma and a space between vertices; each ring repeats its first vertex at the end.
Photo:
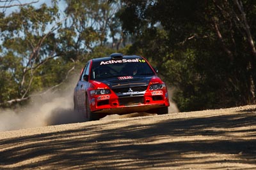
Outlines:
POLYGON ((74 110, 88 120, 111 114, 166 114, 170 106, 165 83, 146 59, 113 53, 89 60, 74 89, 74 110))

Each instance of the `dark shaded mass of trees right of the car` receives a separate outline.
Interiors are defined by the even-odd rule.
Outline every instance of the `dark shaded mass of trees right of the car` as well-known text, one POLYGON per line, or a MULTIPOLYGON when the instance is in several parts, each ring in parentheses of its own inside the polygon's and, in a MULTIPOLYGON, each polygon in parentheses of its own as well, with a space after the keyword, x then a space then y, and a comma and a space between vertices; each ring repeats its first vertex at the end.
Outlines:
POLYGON ((255 103, 254 1, 123 3, 131 53, 159 63, 181 111, 255 103))

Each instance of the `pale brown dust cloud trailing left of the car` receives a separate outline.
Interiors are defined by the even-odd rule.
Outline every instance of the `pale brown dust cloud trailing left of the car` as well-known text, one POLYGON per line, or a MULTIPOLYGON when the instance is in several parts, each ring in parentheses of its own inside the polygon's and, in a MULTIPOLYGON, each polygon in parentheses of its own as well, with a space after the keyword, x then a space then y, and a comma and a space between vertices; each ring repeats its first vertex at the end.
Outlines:
POLYGON ((76 81, 61 92, 48 92, 33 97, 29 104, 15 110, 0 110, 0 132, 42 127, 46 125, 84 122, 81 113, 73 111, 73 90, 76 81))

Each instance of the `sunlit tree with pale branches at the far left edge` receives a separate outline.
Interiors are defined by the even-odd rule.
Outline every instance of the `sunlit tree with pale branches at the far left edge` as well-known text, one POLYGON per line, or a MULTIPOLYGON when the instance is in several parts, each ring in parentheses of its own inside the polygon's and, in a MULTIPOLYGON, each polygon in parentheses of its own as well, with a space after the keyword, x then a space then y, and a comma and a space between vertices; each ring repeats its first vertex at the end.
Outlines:
MULTIPOLYGON (((57 4, 53 1, 52 7, 46 4, 38 9, 31 5, 21 6, 20 11, 1 18, 1 60, 6 61, 1 66, 6 68, 3 74, 9 75, 16 87, 16 94, 8 97, 9 101, 1 94, 2 104, 28 99, 29 90, 38 85, 33 81, 39 74, 38 69, 47 61, 60 57, 61 53, 56 53, 58 39, 55 35, 61 25, 58 16, 57 4)), ((8 85, 8 81, 6 83, 8 85)))

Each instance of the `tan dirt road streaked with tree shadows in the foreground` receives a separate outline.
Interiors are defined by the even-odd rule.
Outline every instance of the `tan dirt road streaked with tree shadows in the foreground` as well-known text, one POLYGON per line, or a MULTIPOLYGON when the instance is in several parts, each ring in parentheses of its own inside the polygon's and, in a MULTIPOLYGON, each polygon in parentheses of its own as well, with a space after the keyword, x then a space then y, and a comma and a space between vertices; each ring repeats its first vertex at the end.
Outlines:
POLYGON ((0 169, 256 169, 256 105, 0 132, 0 169))

